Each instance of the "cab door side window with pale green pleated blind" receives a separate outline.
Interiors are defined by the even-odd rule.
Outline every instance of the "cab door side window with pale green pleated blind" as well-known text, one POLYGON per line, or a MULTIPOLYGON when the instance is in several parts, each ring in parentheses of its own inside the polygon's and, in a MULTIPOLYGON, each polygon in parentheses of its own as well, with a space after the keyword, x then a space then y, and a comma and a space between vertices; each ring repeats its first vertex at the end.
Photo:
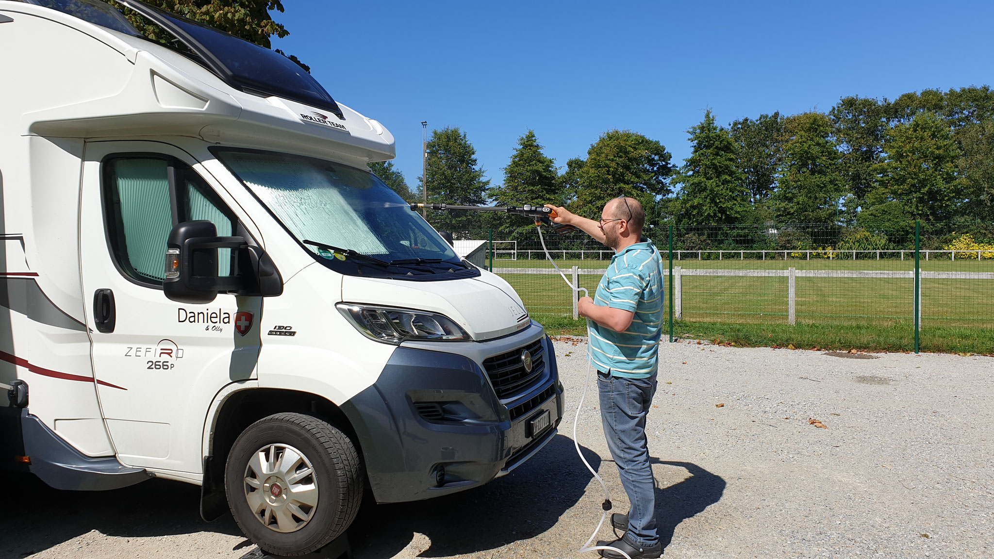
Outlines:
MULTIPOLYGON (((173 226, 209 220, 219 237, 234 235, 234 214, 189 165, 169 156, 121 155, 103 161, 104 220, 113 258, 124 275, 149 285, 165 279, 173 226)), ((231 249, 219 251, 219 274, 232 271, 231 249)))

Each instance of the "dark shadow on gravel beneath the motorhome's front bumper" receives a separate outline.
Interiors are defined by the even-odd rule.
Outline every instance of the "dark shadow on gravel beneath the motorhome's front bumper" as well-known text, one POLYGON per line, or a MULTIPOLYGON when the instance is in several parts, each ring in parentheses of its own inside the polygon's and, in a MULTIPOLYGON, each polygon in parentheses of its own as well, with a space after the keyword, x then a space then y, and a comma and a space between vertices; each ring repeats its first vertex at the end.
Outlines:
MULTIPOLYGON (((581 449, 590 466, 600 465, 595 453, 581 449)), ((349 540, 356 559, 393 557, 412 542, 414 532, 431 541, 418 557, 495 549, 552 528, 577 504, 591 477, 577 460, 573 441, 558 435, 511 474, 481 487, 423 501, 364 505, 349 540)))

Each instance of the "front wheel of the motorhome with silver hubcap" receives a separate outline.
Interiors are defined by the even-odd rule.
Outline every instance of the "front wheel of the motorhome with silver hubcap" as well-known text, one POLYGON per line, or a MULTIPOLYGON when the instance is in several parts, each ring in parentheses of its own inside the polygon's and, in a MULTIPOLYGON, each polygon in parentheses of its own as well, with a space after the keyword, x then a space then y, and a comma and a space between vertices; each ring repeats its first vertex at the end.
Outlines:
POLYGON ((235 521, 272 555, 304 555, 340 536, 359 511, 363 484, 352 441, 303 414, 276 414, 248 426, 225 466, 235 521))

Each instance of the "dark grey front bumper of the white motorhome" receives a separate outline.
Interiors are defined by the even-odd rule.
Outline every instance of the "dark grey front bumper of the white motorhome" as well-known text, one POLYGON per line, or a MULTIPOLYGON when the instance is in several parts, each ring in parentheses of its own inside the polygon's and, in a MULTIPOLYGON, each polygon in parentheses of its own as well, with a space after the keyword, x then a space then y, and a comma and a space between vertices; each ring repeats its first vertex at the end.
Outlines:
POLYGON ((552 343, 537 328, 483 349, 499 353, 541 336, 546 370, 511 397, 497 397, 478 355, 399 347, 377 382, 343 404, 378 502, 486 483, 524 464, 556 436, 563 387, 552 343))

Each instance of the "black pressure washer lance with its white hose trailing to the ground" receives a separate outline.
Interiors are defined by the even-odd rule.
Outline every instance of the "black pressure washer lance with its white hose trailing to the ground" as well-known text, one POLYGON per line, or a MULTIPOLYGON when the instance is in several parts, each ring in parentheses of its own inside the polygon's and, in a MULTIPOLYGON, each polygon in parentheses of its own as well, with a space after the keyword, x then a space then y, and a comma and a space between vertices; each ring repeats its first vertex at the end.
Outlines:
MULTIPOLYGON (((552 208, 546 208, 545 206, 543 206, 543 207, 536 207, 536 206, 531 206, 531 205, 526 204, 525 206, 523 206, 521 208, 516 208, 514 206, 506 206, 506 207, 501 207, 501 206, 456 206, 456 205, 452 205, 452 204, 412 204, 411 205, 411 210, 412 211, 416 211, 416 210, 418 210, 420 208, 427 208, 429 210, 469 210, 469 211, 477 211, 477 212, 504 212, 504 213, 508 213, 508 214, 522 215, 522 216, 527 216, 527 217, 530 217, 530 218, 537 218, 535 220, 535 224, 536 225, 539 225, 540 223, 545 223, 546 225, 551 226, 556 231, 556 233, 559 233, 561 235, 564 234, 564 233, 569 233, 569 232, 574 231, 574 230, 577 229, 576 227, 574 227, 572 225, 566 225, 566 224, 556 223, 556 222, 552 221, 551 218, 556 218, 556 217, 559 217, 559 216, 556 214, 556 212, 552 208)), ((564 274, 563 271, 560 270, 560 267, 556 265, 556 261, 554 261, 552 255, 549 254, 549 249, 546 248, 546 240, 542 236, 542 228, 541 227, 536 227, 536 229, 539 232, 539 242, 542 243, 542 250, 543 250, 543 252, 546 253, 546 258, 549 259, 550 263, 552 263, 553 268, 556 269, 556 272, 559 272, 560 277, 562 277, 563 280, 566 281, 567 285, 570 285, 571 289, 573 289, 574 291, 583 291, 583 296, 589 296, 589 291, 586 290, 586 287, 578 287, 577 285, 574 285, 572 282, 570 282, 570 280, 567 280, 566 274, 564 274)), ((586 348, 587 348, 586 349, 587 352, 589 352, 589 350, 590 350, 590 319, 589 318, 586 319, 586 348)), ((586 361, 586 378, 583 381, 583 392, 580 394, 580 403, 577 404, 577 414, 573 418, 573 444, 574 444, 574 447, 577 449, 577 456, 580 457, 580 461, 582 461, 583 466, 586 466, 586 469, 588 469, 590 471, 590 473, 593 474, 593 477, 597 480, 597 482, 600 483, 600 488, 604 490, 604 502, 600 504, 600 508, 602 509, 602 512, 600 513, 600 521, 597 522, 597 527, 593 529, 593 533, 590 534, 589 539, 586 540, 586 543, 584 543, 583 546, 580 547, 580 549, 578 551, 580 551, 580 553, 584 553, 584 552, 587 552, 587 551, 599 551, 601 549, 612 549, 614 551, 617 551, 621 555, 624 555, 625 559, 631 559, 631 557, 627 553, 625 553, 624 551, 621 551, 620 549, 618 549, 616 547, 611 547, 609 545, 593 545, 593 546, 590 545, 590 542, 592 542, 593 539, 595 537, 597 537, 597 532, 600 531, 600 527, 603 526, 604 520, 607 519, 607 513, 610 512, 610 510, 611 510, 611 495, 607 491, 607 485, 604 483, 604 480, 600 478, 600 475, 596 472, 596 470, 594 470, 593 467, 590 466, 590 463, 586 462, 586 459, 583 458, 583 453, 580 452, 580 441, 577 439, 577 424, 580 423, 580 410, 583 408, 583 400, 586 399, 586 389, 590 385, 590 371, 592 371, 592 370, 593 370, 593 368, 590 367, 590 361, 589 361, 589 359, 587 359, 587 361, 586 361)))

